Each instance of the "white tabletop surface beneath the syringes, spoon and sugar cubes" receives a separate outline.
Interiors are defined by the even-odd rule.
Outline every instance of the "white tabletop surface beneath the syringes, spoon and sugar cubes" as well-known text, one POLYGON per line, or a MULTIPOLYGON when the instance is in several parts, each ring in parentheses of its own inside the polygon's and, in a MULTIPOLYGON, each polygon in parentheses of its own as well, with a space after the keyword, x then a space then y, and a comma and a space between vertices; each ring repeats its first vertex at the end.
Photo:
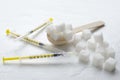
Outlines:
MULTIPOLYGON (((66 22, 79 26, 103 20, 101 30, 112 47, 117 60, 116 72, 98 70, 89 64, 78 64, 74 58, 63 58, 63 64, 0 63, 0 80, 119 80, 120 79, 120 1, 119 0, 0 0, 0 58, 45 52, 29 44, 14 42, 5 35, 7 28, 23 34, 53 17, 54 23, 66 22), (68 63, 70 62, 70 63, 68 63)), ((43 33, 45 34, 45 33, 43 33)), ((46 42, 45 35, 39 39, 46 42), (44 40, 43 40, 44 39, 44 40)), ((64 46, 63 46, 64 49, 64 46)), ((53 59, 60 62, 58 59, 53 59)))

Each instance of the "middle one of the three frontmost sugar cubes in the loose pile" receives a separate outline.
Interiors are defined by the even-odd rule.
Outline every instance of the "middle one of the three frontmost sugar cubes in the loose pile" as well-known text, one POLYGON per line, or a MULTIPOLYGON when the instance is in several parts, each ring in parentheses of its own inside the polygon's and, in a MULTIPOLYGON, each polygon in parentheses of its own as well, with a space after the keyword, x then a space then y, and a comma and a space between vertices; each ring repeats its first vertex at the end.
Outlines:
POLYGON ((102 68, 104 63, 104 57, 100 53, 96 53, 93 56, 92 64, 98 68, 102 68))

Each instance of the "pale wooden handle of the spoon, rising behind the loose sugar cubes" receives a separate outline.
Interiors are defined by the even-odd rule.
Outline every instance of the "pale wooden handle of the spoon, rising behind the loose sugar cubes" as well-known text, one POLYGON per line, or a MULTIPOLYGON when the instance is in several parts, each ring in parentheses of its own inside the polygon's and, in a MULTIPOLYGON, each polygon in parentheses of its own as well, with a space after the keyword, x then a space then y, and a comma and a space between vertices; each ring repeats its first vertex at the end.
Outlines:
POLYGON ((96 29, 96 28, 100 28, 100 27, 103 27, 104 26, 104 22, 103 21, 96 21, 96 22, 92 22, 92 23, 89 23, 89 24, 86 24, 86 25, 82 25, 80 27, 77 27, 75 29, 73 29, 73 32, 74 33, 78 33, 78 32, 81 32, 85 29, 96 29))

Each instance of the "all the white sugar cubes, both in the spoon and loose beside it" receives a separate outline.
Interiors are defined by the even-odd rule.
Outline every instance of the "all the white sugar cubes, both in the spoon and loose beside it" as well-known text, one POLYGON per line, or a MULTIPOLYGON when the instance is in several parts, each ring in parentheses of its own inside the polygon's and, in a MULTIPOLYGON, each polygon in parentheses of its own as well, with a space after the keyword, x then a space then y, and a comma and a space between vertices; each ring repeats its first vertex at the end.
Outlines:
POLYGON ((103 68, 106 71, 115 70, 115 51, 103 39, 102 33, 92 35, 90 30, 84 30, 74 34, 71 24, 61 23, 47 27, 47 34, 55 41, 60 38, 64 38, 66 41, 72 40, 79 61, 91 62, 93 66, 103 68))

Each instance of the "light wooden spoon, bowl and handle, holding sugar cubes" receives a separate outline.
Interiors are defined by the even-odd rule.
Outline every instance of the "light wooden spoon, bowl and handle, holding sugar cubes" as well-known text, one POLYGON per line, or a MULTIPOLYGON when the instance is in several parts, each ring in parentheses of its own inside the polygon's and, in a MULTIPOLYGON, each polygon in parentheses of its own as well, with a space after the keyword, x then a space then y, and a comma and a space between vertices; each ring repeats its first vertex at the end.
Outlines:
MULTIPOLYGON (((73 33, 75 34, 75 33, 81 32, 81 31, 83 31, 85 29, 97 29, 97 28, 100 28, 100 27, 103 27, 103 26, 104 26, 103 21, 96 21, 96 22, 92 22, 92 23, 89 23, 89 24, 82 25, 80 27, 74 28, 73 33)), ((47 38, 54 45, 64 45, 64 44, 68 43, 68 41, 65 40, 64 37, 61 37, 58 40, 54 40, 52 37, 50 37, 49 34, 47 34, 47 38)))

